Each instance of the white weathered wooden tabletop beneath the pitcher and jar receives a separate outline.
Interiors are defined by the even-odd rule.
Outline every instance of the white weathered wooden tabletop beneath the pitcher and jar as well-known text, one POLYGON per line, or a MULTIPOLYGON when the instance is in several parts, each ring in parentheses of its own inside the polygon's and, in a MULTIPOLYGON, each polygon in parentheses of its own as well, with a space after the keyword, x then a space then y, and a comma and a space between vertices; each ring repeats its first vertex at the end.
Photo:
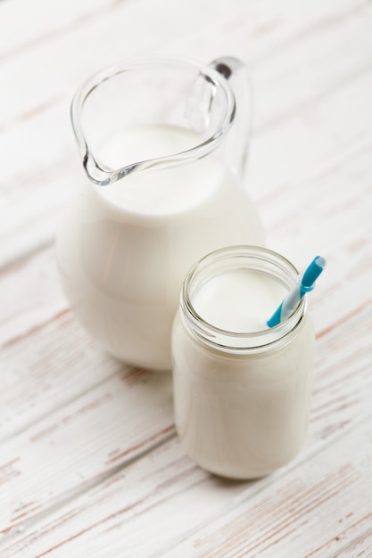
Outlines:
POLYGON ((372 556, 372 4, 2 0, 0 95, 2 558, 372 556), (105 355, 58 282, 82 178, 71 96, 147 53, 247 62, 246 186, 269 247, 299 268, 327 258, 309 436, 260 480, 197 467, 170 374, 105 355))

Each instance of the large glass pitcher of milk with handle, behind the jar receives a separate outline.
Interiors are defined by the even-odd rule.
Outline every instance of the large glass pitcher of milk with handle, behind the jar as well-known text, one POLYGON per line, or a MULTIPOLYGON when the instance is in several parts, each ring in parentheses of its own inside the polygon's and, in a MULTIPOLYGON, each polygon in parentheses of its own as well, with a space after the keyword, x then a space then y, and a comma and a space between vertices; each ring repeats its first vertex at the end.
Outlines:
POLYGON ((264 242, 242 185, 250 102, 244 64, 228 57, 124 63, 74 96, 89 180, 57 234, 62 287, 93 339, 128 364, 170 369, 179 291, 196 259, 264 242))

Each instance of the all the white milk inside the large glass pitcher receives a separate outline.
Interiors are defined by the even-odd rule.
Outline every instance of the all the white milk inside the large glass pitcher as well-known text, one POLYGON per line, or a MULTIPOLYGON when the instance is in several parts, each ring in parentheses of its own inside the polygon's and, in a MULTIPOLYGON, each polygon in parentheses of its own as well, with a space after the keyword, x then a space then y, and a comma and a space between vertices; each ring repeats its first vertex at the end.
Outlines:
MULTIPOLYGON (((179 127, 140 126, 108 138, 112 168, 189 150, 203 138, 179 127)), ((81 185, 62 217, 57 257, 63 289, 87 332, 130 364, 169 370, 180 286, 198 258, 220 246, 263 243, 260 219, 220 153, 120 181, 81 185)))

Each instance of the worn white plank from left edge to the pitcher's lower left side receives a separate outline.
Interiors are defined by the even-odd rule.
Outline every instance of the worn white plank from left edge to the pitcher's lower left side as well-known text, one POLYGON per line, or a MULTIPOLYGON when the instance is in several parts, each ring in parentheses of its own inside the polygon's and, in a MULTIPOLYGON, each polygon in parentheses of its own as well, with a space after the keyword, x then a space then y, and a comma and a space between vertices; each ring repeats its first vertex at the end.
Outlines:
POLYGON ((0 370, 4 443, 108 378, 124 374, 126 366, 97 348, 66 311, 9 341, 0 351, 0 370))

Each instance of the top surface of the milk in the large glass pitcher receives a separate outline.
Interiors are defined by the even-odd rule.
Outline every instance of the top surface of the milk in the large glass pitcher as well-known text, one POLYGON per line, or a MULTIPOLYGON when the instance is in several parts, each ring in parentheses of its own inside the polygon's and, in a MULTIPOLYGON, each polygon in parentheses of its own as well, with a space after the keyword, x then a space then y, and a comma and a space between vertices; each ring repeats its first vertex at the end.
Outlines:
MULTIPOLYGON (((141 160, 161 160, 186 152, 202 138, 179 127, 143 125, 120 131, 103 144, 100 158, 112 168, 141 160)), ((197 169, 186 164, 167 172, 135 174, 126 183, 116 182, 98 192, 126 211, 163 216, 185 212, 216 195, 224 168, 217 161, 199 161, 197 169)))

